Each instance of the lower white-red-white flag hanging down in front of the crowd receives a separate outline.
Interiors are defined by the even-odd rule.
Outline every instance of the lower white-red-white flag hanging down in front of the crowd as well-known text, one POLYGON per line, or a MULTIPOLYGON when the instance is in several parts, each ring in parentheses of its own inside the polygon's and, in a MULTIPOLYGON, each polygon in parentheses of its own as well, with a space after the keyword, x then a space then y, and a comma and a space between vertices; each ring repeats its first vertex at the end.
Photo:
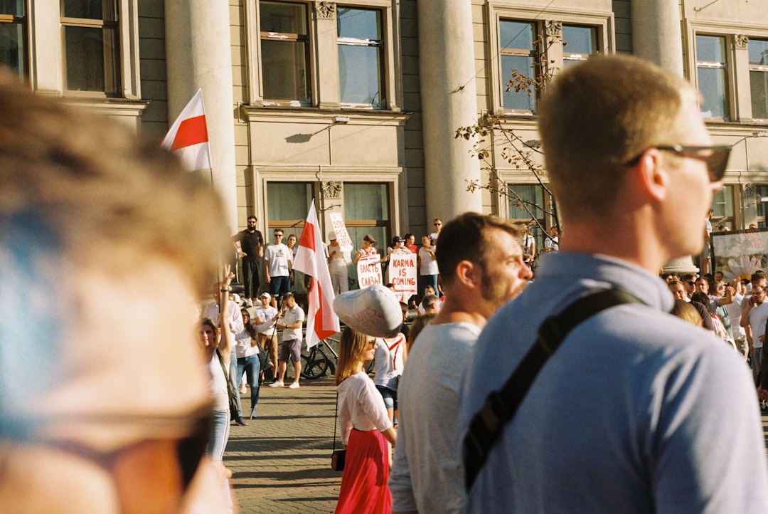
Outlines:
POLYGON ((310 312, 306 317, 306 347, 311 348, 326 337, 339 332, 339 317, 333 312, 333 286, 328 262, 323 252, 323 237, 317 223, 315 201, 306 215, 306 224, 299 240, 299 250, 293 268, 312 277, 310 312))

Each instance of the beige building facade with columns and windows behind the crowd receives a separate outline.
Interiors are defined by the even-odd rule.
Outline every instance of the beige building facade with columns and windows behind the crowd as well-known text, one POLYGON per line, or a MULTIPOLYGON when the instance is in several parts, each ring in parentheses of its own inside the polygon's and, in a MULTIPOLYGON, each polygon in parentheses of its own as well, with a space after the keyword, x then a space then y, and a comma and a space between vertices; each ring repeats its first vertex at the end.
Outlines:
POLYGON ((0 0, 0 62, 41 94, 159 139, 202 88, 231 230, 253 214, 268 239, 313 199, 326 232, 340 213, 380 247, 467 210, 550 226, 541 89, 510 80, 614 52, 688 78, 734 144, 713 224, 768 225, 764 2, 0 0), (495 128, 455 138, 478 122, 495 128))

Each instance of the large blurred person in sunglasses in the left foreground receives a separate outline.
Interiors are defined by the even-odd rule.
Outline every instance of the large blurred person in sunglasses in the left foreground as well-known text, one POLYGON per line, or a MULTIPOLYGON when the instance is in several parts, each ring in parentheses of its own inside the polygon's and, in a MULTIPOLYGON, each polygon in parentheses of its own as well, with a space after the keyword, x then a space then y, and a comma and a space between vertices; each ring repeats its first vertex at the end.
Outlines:
POLYGON ((0 511, 228 512, 189 308, 216 195, 6 75, 0 112, 0 511))

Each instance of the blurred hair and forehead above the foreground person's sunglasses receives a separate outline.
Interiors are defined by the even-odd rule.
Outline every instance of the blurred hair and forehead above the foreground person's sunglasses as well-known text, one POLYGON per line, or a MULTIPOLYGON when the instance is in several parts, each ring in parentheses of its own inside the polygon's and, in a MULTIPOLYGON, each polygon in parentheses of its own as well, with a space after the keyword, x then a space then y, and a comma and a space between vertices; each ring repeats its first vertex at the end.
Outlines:
POLYGON ((88 419, 178 413, 204 391, 167 367, 201 376, 191 309, 226 244, 220 201, 157 141, 2 74, 0 112, 0 438, 124 444, 141 428, 88 419))

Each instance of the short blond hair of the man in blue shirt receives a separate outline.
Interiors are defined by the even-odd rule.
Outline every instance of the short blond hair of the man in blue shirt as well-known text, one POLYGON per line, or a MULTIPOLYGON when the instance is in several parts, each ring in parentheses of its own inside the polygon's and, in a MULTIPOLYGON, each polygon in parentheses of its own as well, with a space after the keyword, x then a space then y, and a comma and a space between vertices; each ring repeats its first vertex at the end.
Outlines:
POLYGON ((550 184, 563 217, 601 214, 624 164, 675 141, 673 121, 697 93, 683 78, 628 55, 604 55, 558 73, 538 110, 550 184))

